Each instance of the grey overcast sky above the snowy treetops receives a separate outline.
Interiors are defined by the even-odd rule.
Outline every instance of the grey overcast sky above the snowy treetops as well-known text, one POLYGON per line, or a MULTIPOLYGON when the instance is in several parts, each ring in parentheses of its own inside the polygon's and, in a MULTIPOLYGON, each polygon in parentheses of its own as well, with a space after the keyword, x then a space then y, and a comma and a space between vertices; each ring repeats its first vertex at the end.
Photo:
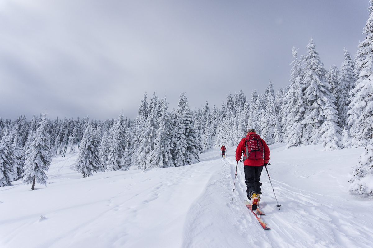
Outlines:
POLYGON ((368 0, 1 0, 0 117, 137 116, 146 91, 176 108, 289 83, 311 37, 326 69, 364 39, 368 0))

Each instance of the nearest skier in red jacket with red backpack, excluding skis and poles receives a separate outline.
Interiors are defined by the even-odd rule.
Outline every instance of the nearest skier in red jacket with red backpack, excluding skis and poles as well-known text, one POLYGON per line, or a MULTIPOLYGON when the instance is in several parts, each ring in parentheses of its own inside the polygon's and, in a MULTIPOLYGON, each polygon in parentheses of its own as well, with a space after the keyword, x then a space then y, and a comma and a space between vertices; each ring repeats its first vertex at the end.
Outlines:
POLYGON ((247 130, 246 137, 243 138, 236 149, 236 161, 241 160, 244 153, 245 184, 247 186, 247 198, 251 200, 253 210, 257 209, 261 195, 260 175, 263 166, 269 160, 269 148, 266 142, 260 138, 254 129, 247 130))

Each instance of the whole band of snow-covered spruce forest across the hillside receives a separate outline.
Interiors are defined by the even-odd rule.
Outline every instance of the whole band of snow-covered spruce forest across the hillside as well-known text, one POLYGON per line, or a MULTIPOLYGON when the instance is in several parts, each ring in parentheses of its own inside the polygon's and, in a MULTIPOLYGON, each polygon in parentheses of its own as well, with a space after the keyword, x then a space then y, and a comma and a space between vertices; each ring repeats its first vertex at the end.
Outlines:
MULTIPOLYGON (((307 54, 294 60, 290 83, 276 93, 272 82, 250 99, 242 90, 229 93, 220 108, 206 105, 191 110, 185 93, 178 108, 168 111, 166 98, 145 93, 135 120, 120 114, 117 120, 59 119, 46 114, 27 121, 0 118, 0 187, 22 179, 46 184, 51 157, 75 153, 81 141, 75 170, 88 177, 92 172, 150 167, 184 166, 199 161, 204 150, 235 146, 254 128, 267 144, 282 142, 286 149, 322 144, 334 150, 367 147, 351 179, 350 190, 372 194, 364 180, 373 173, 373 2, 363 29, 366 38, 358 45, 355 59, 345 49, 338 69, 326 70, 311 39, 307 54), (202 138, 203 137, 203 138, 202 138), (69 141, 68 141, 69 140, 69 141)), ((341 51, 342 52, 342 51, 341 51)), ((372 179, 373 180, 373 179, 372 179)))

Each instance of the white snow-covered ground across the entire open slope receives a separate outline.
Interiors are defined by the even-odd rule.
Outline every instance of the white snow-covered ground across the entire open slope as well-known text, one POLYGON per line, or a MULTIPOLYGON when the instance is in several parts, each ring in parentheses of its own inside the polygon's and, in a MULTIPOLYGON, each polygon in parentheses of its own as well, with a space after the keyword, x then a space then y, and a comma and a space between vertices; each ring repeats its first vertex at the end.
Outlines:
POLYGON ((260 205, 263 230, 236 190, 235 147, 178 168, 95 173, 72 170, 77 154, 53 158, 48 185, 0 188, 0 247, 373 247, 373 201, 347 193, 363 149, 321 152, 270 146, 260 205), (43 216, 43 217, 41 217, 43 216))

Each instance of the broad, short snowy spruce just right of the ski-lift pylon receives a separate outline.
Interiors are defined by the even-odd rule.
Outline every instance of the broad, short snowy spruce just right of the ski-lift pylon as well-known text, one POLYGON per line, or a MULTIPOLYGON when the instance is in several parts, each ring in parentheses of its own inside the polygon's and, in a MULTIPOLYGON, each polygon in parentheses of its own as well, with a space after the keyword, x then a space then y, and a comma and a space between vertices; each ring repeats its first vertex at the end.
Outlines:
POLYGON ((93 175, 92 172, 102 171, 103 166, 100 163, 100 144, 97 142, 95 130, 90 124, 85 128, 78 159, 74 166, 74 171, 80 172, 84 177, 93 175))

